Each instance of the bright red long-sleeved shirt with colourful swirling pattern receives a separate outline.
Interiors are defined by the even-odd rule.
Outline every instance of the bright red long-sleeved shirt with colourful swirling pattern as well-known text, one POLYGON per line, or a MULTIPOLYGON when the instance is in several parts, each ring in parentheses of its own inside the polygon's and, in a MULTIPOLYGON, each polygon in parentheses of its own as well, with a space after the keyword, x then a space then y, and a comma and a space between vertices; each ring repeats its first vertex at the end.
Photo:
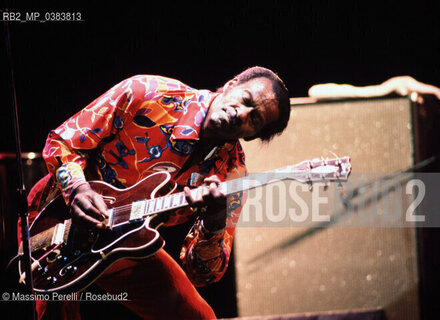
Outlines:
MULTIPOLYGON (((148 75, 131 77, 101 95, 51 131, 43 151, 66 202, 71 190, 93 174, 118 188, 162 170, 174 178, 194 151, 216 96, 177 80, 148 75)), ((244 153, 236 141, 218 148, 209 159, 181 174, 176 183, 183 188, 194 186, 191 176, 203 181, 216 174, 226 180, 245 173, 244 153)), ((197 286, 218 281, 226 271, 241 210, 240 196, 229 198, 228 206, 225 231, 207 235, 196 220, 185 239, 181 260, 197 286)), ((176 211, 165 226, 186 222, 192 214, 190 210, 176 211)))

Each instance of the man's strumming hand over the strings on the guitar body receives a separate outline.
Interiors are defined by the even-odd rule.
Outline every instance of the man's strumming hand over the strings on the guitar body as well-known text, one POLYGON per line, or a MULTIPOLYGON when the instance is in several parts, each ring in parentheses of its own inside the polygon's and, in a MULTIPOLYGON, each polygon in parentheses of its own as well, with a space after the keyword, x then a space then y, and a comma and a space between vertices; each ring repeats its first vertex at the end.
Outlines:
POLYGON ((72 221, 88 229, 105 229, 102 221, 108 218, 107 206, 102 196, 93 191, 88 183, 81 184, 71 195, 70 215, 72 221))

